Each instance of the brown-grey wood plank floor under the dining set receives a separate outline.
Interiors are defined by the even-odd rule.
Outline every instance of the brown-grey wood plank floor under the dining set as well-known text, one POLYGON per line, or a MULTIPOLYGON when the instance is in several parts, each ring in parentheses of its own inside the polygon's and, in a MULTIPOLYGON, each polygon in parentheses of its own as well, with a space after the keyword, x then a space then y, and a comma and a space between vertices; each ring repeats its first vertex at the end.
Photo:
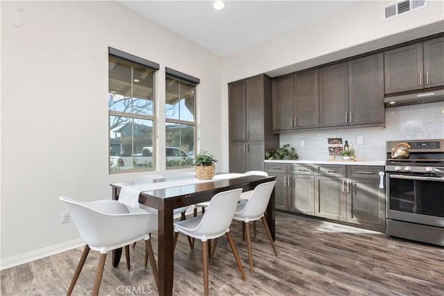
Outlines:
MULTIPOLYGON (((335 223, 276 214, 274 256, 262 225, 253 238, 255 270, 248 272, 241 224, 232 235, 246 270, 242 281, 230 245, 219 239, 209 261, 211 295, 444 295, 444 248, 389 238, 335 223)), ((179 236, 174 295, 203 295, 200 241, 193 251, 179 236)), ((157 256, 156 238, 153 247, 157 256)), ((1 271, 1 295, 65 295, 83 248, 1 271)), ((98 253, 91 251, 73 295, 92 291, 98 253)), ((157 258, 157 257, 156 257, 157 258)), ((144 268, 144 243, 113 268, 108 254, 100 295, 157 295, 151 269, 144 268)))

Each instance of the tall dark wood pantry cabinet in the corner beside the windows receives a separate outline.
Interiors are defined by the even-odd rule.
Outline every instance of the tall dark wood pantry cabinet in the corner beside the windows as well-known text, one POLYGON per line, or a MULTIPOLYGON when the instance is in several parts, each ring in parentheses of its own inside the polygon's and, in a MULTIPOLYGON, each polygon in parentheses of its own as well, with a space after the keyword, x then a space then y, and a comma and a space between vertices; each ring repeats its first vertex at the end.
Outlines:
POLYGON ((254 76, 228 84, 230 172, 264 171, 264 153, 279 146, 271 131, 271 78, 254 76))

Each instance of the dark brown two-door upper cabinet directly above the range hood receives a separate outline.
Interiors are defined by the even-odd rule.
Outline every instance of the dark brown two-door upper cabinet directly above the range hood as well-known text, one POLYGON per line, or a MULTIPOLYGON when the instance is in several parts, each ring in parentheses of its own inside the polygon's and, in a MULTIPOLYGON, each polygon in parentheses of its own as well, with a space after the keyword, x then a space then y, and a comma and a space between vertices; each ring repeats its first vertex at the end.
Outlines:
POLYGON ((384 53, 385 93, 444 85, 444 37, 384 53))

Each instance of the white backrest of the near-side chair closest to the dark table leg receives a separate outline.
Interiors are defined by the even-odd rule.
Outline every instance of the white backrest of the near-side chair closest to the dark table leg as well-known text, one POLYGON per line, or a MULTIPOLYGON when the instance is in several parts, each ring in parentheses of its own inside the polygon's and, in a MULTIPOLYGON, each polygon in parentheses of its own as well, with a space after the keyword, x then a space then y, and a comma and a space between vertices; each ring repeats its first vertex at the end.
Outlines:
POLYGON ((194 233, 211 236, 229 229, 241 192, 239 188, 214 195, 194 233))

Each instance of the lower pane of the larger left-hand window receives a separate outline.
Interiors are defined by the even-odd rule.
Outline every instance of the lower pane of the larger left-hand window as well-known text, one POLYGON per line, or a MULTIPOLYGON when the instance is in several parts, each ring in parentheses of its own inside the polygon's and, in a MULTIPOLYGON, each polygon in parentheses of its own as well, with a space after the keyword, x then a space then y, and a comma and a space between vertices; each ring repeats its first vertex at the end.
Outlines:
POLYGON ((110 116, 110 169, 153 168, 153 121, 110 116))

